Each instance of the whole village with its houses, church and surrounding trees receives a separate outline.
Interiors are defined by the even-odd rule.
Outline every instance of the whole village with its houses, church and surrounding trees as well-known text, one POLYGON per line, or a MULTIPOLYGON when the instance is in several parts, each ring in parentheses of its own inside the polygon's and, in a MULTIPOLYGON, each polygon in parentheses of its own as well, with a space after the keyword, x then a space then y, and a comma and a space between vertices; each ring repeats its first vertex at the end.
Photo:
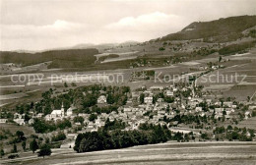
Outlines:
MULTIPOLYGON (((2 110, 0 122, 31 126, 41 142, 55 143, 55 147, 61 148, 73 148, 79 134, 101 128, 134 131, 145 125, 166 126, 172 134, 170 139, 177 141, 255 140, 253 129, 235 127, 256 116, 253 102, 206 98, 202 89, 193 79, 168 86, 143 86, 134 91, 129 86, 101 84, 64 92, 50 88, 42 93, 41 101, 17 106, 13 115, 2 110), (58 141, 58 146, 54 141, 58 141)), ((19 142, 22 140, 14 138, 8 143, 17 147, 19 142)), ((15 150, 9 148, 3 152, 15 150)))

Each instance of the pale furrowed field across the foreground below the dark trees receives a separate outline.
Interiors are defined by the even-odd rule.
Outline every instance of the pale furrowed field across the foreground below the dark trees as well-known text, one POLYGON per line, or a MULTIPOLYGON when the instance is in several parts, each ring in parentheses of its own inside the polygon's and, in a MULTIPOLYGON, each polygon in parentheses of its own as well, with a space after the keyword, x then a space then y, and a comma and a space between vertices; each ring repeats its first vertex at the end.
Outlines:
POLYGON ((255 164, 255 142, 166 142, 123 149, 76 153, 71 149, 55 149, 50 157, 36 155, 3 160, 16 164, 255 164), (61 153, 61 154, 60 154, 61 153))

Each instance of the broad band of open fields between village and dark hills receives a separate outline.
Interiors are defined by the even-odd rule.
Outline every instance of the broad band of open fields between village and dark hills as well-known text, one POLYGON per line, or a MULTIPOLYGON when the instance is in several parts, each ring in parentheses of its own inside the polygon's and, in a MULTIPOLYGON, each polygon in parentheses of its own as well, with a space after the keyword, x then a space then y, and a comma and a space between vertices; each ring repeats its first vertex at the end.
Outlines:
MULTIPOLYGON (((202 83, 201 78, 198 79, 198 84, 203 84, 205 86, 205 89, 212 90, 215 92, 215 95, 219 95, 220 97, 229 97, 229 96, 236 96, 237 100, 246 100, 247 96, 255 97, 255 91, 256 91, 256 48, 253 48, 249 53, 245 54, 239 54, 239 55, 230 55, 225 56, 224 60, 228 60, 227 62, 224 62, 224 69, 219 69, 217 71, 214 71, 206 76, 205 78, 212 77, 211 79, 213 82, 207 82, 202 83), (239 59, 237 59, 239 58, 239 59), (235 75, 236 74, 236 75, 235 75), (213 75, 216 75, 213 77, 213 75), (220 75, 224 75, 226 79, 219 79, 221 77, 220 75), (219 76, 219 77, 217 77, 219 76), (243 76, 246 76, 244 80, 243 76), (238 82, 228 82, 230 78, 237 78, 238 82), (219 80, 220 82, 217 82, 219 80), (240 94, 243 93, 243 94, 240 94)), ((126 55, 122 55, 126 57, 126 55)), ((120 56, 121 57, 121 56, 120 56)), ((127 56, 130 57, 130 56, 127 56)), ((133 57, 133 56, 132 56, 133 57)), ((113 58, 115 59, 115 58, 113 58)), ((109 63, 101 63, 100 67, 99 65, 95 65, 90 70, 95 71, 87 71, 85 70, 70 70, 70 69, 59 69, 59 70, 42 70, 38 73, 34 73, 35 78, 43 78, 41 81, 42 83, 40 85, 31 83, 28 85, 28 80, 25 83, 11 83, 11 75, 5 75, 1 76, 1 104, 10 103, 12 101, 24 101, 24 100, 30 100, 33 99, 36 101, 37 96, 40 96, 40 93, 45 91, 49 87, 60 87, 60 89, 64 89, 63 87, 63 81, 59 83, 54 83, 52 86, 47 80, 50 78, 52 74, 54 75, 64 75, 65 76, 73 76, 74 78, 77 78, 77 75, 91 75, 91 74, 112 74, 116 75, 118 73, 121 73, 121 75, 124 76, 124 82, 123 83, 115 83, 115 85, 122 85, 122 84, 128 84, 131 86, 132 89, 140 87, 140 86, 147 86, 150 87, 151 85, 155 85, 156 82, 154 80, 150 81, 141 81, 139 83, 131 83, 129 82, 131 72, 133 71, 142 71, 142 70, 154 70, 158 74, 160 73, 161 76, 163 75, 169 75, 173 78, 173 76, 181 75, 183 73, 183 77, 189 76, 191 73, 196 73, 195 71, 191 71, 191 69, 198 69, 200 66, 206 66, 209 62, 217 62, 219 59, 219 56, 217 55, 210 55, 198 60, 193 60, 190 62, 184 62, 179 64, 172 64, 169 66, 159 66, 159 67, 142 67, 142 68, 134 68, 134 69, 122 69, 127 68, 129 66, 129 60, 126 61, 115 61, 115 62, 109 62, 109 63), (127 66, 128 65, 128 66, 127 66), (113 67, 113 68, 112 68, 113 67), (120 69, 116 70, 117 67, 120 67, 120 69), (103 70, 103 68, 107 68, 108 70, 103 70), (22 87, 21 87, 22 86, 22 87), (39 90, 38 90, 39 89, 39 90), (21 91, 20 91, 21 90, 21 91), (34 91, 31 93, 28 93, 30 91, 34 91), (36 97, 34 97, 36 96, 36 97), (8 99, 7 99, 8 98, 8 99), (16 98, 16 99, 15 99, 16 98), (19 98, 19 100, 17 99, 19 98), (21 99, 22 98, 22 99, 21 99)), ((111 59, 109 59, 111 60, 111 59)), ((31 78, 33 79, 33 73, 31 73, 31 78)), ((19 75, 19 74, 18 74, 19 75)), ((26 74, 26 78, 29 78, 30 75, 26 74)), ((16 79, 18 77, 15 77, 16 79)), ((37 79, 38 79, 37 78, 37 79)), ((14 79, 15 81, 17 81, 14 79)), ((37 83, 35 81, 35 83, 37 83)), ((157 82, 159 85, 169 85, 172 84, 172 82, 157 82)), ((69 83, 70 84, 70 83, 69 83)), ((91 83, 77 83, 77 85, 87 85, 91 83)), ((111 83, 106 83, 111 84, 111 83)), ((112 83, 113 84, 113 83, 112 83)))

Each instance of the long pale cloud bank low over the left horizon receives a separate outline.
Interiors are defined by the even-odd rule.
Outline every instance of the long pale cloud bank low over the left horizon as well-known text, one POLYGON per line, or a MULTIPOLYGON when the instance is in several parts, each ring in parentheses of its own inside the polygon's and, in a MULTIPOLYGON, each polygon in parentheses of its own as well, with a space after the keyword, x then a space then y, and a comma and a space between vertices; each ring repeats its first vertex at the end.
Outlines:
POLYGON ((82 42, 80 35, 89 26, 56 20, 49 25, 1 25, 0 29, 1 50, 41 50, 82 42))

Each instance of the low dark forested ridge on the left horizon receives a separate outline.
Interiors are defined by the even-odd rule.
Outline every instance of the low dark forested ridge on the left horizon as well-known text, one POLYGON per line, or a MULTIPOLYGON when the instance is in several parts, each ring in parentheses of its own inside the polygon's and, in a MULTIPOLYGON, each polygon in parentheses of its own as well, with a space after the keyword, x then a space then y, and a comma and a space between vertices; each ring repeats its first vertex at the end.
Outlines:
POLYGON ((29 66, 52 61, 50 68, 73 68, 94 64, 97 49, 50 50, 37 53, 0 52, 0 63, 29 66))

